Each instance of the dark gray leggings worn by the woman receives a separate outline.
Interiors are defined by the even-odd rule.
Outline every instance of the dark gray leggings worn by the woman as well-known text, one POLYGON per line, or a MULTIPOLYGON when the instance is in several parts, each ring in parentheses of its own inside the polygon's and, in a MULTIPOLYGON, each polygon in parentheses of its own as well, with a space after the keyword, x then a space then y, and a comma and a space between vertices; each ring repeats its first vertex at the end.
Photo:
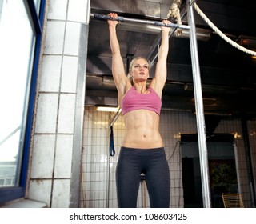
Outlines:
POLYGON ((136 208, 141 174, 145 174, 151 208, 169 208, 170 175, 164 148, 121 147, 116 182, 119 208, 136 208))

